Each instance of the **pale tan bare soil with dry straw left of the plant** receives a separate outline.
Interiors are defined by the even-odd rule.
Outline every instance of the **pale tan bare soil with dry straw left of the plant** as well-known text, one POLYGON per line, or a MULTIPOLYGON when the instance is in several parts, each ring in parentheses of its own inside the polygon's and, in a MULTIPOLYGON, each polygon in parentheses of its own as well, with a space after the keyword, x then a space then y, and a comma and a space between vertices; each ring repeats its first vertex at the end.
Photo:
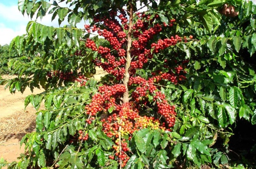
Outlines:
MULTIPOLYGON (((12 76, 3 78, 12 78, 12 76)), ((20 92, 11 94, 8 88, 5 90, 4 87, 0 86, 0 158, 12 162, 17 160, 20 153, 24 153, 24 145, 20 148, 22 137, 35 130, 36 110, 31 104, 24 110, 25 98, 43 90, 35 88, 32 93, 27 88, 23 94, 20 92)))

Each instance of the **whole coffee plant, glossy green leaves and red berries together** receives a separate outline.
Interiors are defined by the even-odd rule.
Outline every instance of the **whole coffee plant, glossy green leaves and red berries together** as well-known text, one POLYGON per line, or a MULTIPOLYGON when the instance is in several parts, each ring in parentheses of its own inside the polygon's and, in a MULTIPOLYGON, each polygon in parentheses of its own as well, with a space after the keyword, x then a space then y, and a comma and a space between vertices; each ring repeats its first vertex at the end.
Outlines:
POLYGON ((18 77, 0 84, 12 93, 42 87, 25 106, 45 108, 37 112, 36 131, 21 140, 27 153, 17 162, 1 159, 0 166, 235 165, 229 149, 234 124, 256 124, 251 1, 19 0, 18 7, 31 18, 48 13, 69 24, 30 21, 27 34, 10 44, 19 54, 44 54, 25 64, 10 60, 18 77), (225 3, 239 15, 221 15, 225 3), (93 78, 96 66, 108 73, 100 81, 93 78))

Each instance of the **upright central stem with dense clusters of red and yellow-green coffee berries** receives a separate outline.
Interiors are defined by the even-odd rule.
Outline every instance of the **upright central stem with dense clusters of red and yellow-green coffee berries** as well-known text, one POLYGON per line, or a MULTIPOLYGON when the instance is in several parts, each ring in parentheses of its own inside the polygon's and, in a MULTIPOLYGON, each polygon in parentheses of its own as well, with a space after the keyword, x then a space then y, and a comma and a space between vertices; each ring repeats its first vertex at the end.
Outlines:
MULTIPOLYGON (((181 42, 178 35, 165 39, 159 39, 154 42, 155 35, 159 34, 164 27, 173 27, 175 19, 170 20, 170 24, 159 24, 159 15, 147 15, 145 12, 134 14, 132 5, 128 6, 127 13, 122 10, 118 15, 121 22, 115 17, 116 10, 109 11, 109 16, 94 17, 94 25, 85 24, 85 30, 88 33, 96 32, 103 36, 112 49, 108 47, 96 46, 92 39, 87 39, 85 46, 98 53, 94 63, 102 67, 105 71, 116 77, 121 84, 113 86, 100 86, 98 93, 92 96, 92 102, 86 105, 87 114, 94 117, 97 114, 108 114, 107 119, 102 118, 104 133, 112 138, 115 145, 112 147, 115 154, 110 155, 109 159, 116 159, 119 167, 125 167, 132 154, 128 147, 129 140, 132 139, 133 133, 143 128, 152 128, 154 130, 168 130, 175 124, 175 106, 167 103, 165 95, 159 91, 154 83, 160 80, 168 80, 176 84, 186 77, 179 75, 182 66, 174 68, 176 74, 170 70, 166 73, 152 74, 153 77, 144 79, 134 76, 137 69, 142 69, 149 59, 156 57, 159 52, 167 47, 181 42), (127 19, 129 15, 129 20, 127 19), (105 29, 100 29, 99 24, 103 24, 105 29), (129 91, 133 89, 133 91, 129 91), (157 105, 155 109, 158 115, 142 116, 142 105, 149 103, 149 96, 157 105), (143 101, 142 101, 143 100, 143 101), (157 118, 157 117, 159 117, 157 118), (128 140, 124 139, 128 137, 128 140)), ((187 39, 186 39, 187 40, 187 39)), ((166 61, 165 61, 166 62, 166 61)), ((152 103, 152 100, 150 100, 152 103)))

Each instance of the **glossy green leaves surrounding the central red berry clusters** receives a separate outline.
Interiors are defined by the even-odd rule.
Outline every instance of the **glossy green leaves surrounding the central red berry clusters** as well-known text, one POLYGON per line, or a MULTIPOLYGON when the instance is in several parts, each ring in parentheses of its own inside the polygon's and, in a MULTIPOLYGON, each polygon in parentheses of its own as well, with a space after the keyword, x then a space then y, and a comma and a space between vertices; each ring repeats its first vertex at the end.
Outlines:
MULTIPOLYGON (((33 89, 39 84, 46 91, 25 100, 25 105, 31 103, 37 110, 45 100, 45 110, 37 113, 36 132, 27 134, 21 141, 29 154, 22 154, 20 161, 12 162, 9 168, 43 168, 54 167, 55 164, 60 168, 117 168, 117 160, 108 158, 113 153, 113 142, 102 132, 101 117, 88 125, 84 110, 102 83, 117 81, 110 75, 101 82, 91 78, 95 73, 92 59, 97 57, 97 53, 84 48, 80 41, 83 42, 89 34, 77 28, 76 24, 84 20, 91 22, 98 12, 108 16, 109 8, 122 9, 128 1, 103 3, 92 0, 90 5, 77 0, 61 2, 74 8, 61 7, 56 1, 51 6, 44 0, 19 0, 23 14, 44 17, 49 12, 52 19, 58 16, 59 23, 67 16, 70 25, 54 28, 31 21, 27 25, 27 34, 16 37, 10 44, 19 54, 22 51, 34 54, 42 47, 45 53, 26 64, 12 59, 9 66, 18 78, 1 80, 0 83, 7 84, 11 92, 22 92, 26 86, 33 89), (82 55, 77 55, 77 51, 82 55), (50 71, 72 71, 74 75, 81 72, 89 80, 86 86, 77 87, 74 81, 48 78, 50 71), (77 141, 75 134, 80 129, 89 135, 86 142, 77 141)), ((240 121, 248 121, 250 127, 256 124, 256 6, 251 1, 239 0, 161 0, 159 5, 149 2, 149 14, 159 15, 163 22, 176 19, 176 25, 163 28, 156 39, 174 34, 193 35, 193 39, 165 49, 149 60, 143 69, 137 70, 136 75, 149 78, 152 72, 165 73, 182 65, 187 80, 178 84, 160 81, 160 90, 171 105, 176 105, 176 124, 172 132, 148 128, 136 132, 132 140, 127 141, 132 154, 126 168, 202 165, 225 168, 236 162, 254 167, 255 142, 246 149, 246 153, 237 152, 240 158, 234 161, 232 159, 237 158, 229 147, 229 140, 236 124, 241 125, 240 121), (234 5, 239 16, 220 15, 218 10, 224 3, 234 5)), ((97 37, 92 39, 99 45, 97 37)), ((101 45, 109 44, 104 42, 101 45)), ((153 112, 154 102, 150 102, 152 107, 148 109, 153 112)), ((254 135, 251 137, 255 138, 254 135)), ((2 160, 0 165, 7 164, 2 160)), ((243 167, 239 165, 237 168, 243 167)))

